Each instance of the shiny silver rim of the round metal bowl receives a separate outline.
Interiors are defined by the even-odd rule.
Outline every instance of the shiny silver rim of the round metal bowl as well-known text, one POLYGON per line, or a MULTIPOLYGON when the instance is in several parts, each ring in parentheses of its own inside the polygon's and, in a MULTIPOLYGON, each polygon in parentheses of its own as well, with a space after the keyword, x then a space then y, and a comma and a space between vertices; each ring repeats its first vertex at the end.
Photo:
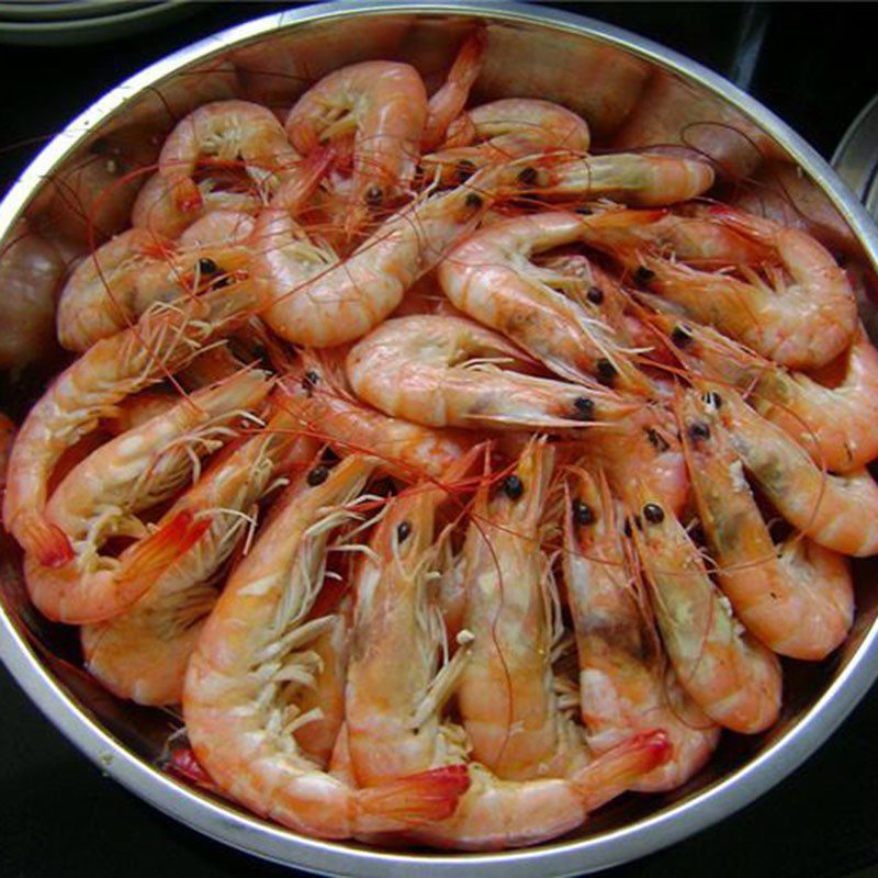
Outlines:
MULTIPOLYGON (((0 239, 22 214, 49 171, 71 154, 90 131, 120 110, 134 94, 180 67, 238 48, 260 37, 301 24, 361 15, 430 14, 481 16, 503 23, 533 24, 578 34, 617 46, 671 72, 695 80, 729 101, 744 116, 781 143, 831 198, 857 235, 864 251, 878 263, 878 227, 829 164, 792 128, 755 99, 697 61, 622 29, 558 9, 503 0, 338 0, 273 12, 223 30, 178 49, 112 88, 76 116, 33 159, 0 202, 0 239)), ((873 683, 878 663, 878 622, 874 622, 846 666, 785 734, 741 768, 657 814, 584 838, 485 854, 379 851, 299 835, 259 818, 233 810, 151 767, 92 721, 54 682, 26 637, 0 605, 0 658, 40 710, 101 770, 139 798, 217 841, 279 864, 328 875, 427 876, 466 869, 485 878, 576 875, 637 859, 716 823, 752 802, 795 770, 842 723, 873 683)))

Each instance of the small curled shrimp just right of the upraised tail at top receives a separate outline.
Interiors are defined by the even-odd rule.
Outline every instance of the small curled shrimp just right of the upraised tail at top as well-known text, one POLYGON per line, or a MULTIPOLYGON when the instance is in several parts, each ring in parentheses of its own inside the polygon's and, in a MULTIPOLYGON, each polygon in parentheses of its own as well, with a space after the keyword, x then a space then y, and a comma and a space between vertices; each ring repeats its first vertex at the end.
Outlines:
POLYGON ((585 120, 564 106, 551 101, 506 98, 458 116, 442 148, 424 156, 421 162, 428 172, 436 168, 443 179, 459 179, 486 165, 538 153, 585 153, 589 142, 585 120))

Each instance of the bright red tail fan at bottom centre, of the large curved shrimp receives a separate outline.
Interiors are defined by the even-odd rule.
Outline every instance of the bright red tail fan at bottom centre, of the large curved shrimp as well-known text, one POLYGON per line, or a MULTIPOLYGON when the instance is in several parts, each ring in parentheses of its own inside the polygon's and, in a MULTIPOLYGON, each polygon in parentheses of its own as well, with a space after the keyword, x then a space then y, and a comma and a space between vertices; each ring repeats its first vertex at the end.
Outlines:
POLYGON ((448 765, 357 791, 361 812, 401 823, 430 823, 454 813, 470 788, 465 765, 448 765))

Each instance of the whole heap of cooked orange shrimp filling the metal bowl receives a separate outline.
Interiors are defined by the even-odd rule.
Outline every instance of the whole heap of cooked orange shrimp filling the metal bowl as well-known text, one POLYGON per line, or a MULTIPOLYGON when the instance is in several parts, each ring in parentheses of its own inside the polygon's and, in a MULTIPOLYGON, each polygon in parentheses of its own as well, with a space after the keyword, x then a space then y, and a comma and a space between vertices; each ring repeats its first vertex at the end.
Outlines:
POLYGON ((530 845, 683 786, 878 553, 848 274, 694 151, 473 105, 486 49, 179 121, 0 424, 35 607, 179 706, 168 770, 323 838, 530 845))

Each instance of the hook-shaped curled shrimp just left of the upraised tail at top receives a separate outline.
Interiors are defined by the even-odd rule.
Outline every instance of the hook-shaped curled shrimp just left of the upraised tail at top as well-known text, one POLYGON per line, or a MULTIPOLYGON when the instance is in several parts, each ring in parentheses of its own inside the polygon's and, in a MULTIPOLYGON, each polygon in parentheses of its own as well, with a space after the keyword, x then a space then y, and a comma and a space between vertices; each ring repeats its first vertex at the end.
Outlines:
POLYGON ((342 67, 312 86, 290 111, 286 133, 304 155, 322 143, 354 135, 348 233, 359 228, 370 211, 406 193, 427 112, 418 71, 393 61, 342 67))

